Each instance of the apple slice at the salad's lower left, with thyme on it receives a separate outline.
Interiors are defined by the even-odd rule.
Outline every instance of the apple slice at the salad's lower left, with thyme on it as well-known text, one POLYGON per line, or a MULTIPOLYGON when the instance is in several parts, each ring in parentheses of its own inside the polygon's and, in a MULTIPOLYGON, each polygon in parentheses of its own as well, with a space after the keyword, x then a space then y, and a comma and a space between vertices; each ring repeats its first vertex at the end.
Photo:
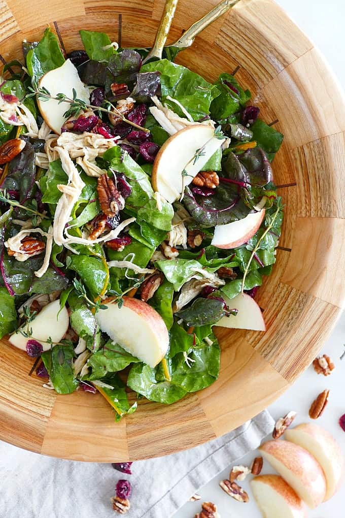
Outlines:
POLYGON ((51 344, 47 342, 48 338, 50 337, 53 342, 59 342, 65 336, 69 326, 69 316, 66 306, 64 306, 58 314, 59 311, 59 300, 54 300, 47 304, 47 306, 44 306, 44 308, 37 313, 34 320, 29 324, 29 327, 32 329, 32 336, 27 338, 21 333, 16 332, 9 337, 9 342, 12 346, 16 346, 18 349, 25 351, 27 341, 36 340, 42 345, 43 351, 48 351, 51 348, 51 344))

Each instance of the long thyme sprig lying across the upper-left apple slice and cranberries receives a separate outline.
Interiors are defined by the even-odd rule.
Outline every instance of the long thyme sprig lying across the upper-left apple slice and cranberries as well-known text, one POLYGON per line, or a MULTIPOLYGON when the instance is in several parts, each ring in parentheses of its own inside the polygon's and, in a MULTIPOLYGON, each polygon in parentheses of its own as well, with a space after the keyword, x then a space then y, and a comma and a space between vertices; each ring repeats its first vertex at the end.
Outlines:
POLYGON ((70 117, 76 117, 80 111, 98 111, 98 112, 105 112, 105 113, 113 113, 116 117, 119 117, 123 120, 123 122, 126 122, 130 126, 133 126, 137 128, 137 130, 143 131, 145 133, 149 133, 149 130, 147 128, 144 128, 142 126, 139 126, 139 124, 136 124, 135 122, 132 122, 124 116, 123 113, 121 113, 110 101, 104 101, 104 106, 94 106, 92 104, 87 104, 82 99, 78 99, 77 92, 73 88, 72 90, 72 99, 70 97, 67 97, 67 95, 63 93, 58 93, 56 95, 51 95, 50 92, 47 90, 47 88, 28 88, 29 92, 26 97, 34 97, 37 95, 38 99, 41 101, 48 101, 49 99, 55 99, 58 101, 59 104, 61 103, 68 103, 70 104, 70 108, 65 111, 64 117, 66 119, 69 119, 70 117))

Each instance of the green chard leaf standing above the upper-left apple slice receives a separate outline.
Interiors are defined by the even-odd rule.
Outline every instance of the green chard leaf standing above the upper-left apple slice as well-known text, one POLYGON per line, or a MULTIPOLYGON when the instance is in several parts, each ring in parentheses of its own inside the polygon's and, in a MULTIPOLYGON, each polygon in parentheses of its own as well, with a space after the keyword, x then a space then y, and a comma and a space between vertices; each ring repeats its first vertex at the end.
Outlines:
POLYGON ((65 58, 59 47, 58 39, 48 27, 37 47, 29 50, 26 55, 26 67, 33 85, 36 87, 44 74, 64 63, 65 58))

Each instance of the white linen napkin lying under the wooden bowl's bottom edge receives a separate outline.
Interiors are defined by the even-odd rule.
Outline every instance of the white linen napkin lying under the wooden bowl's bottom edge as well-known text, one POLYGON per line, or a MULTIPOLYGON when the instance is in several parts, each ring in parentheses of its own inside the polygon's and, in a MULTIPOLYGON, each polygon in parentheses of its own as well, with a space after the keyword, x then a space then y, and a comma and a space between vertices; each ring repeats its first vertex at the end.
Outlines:
POLYGON ((64 461, 0 442, 0 516, 114 518, 110 497, 117 481, 128 479, 132 496, 126 517, 169 518, 199 487, 256 449, 273 426, 271 415, 264 411, 197 448, 134 462, 131 475, 110 464, 64 461))

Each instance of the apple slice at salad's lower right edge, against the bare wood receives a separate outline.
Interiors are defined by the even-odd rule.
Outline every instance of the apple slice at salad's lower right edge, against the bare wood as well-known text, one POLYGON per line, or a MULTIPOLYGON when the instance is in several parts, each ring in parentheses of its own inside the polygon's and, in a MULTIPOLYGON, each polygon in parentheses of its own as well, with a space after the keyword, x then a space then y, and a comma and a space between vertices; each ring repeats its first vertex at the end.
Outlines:
POLYGON ((261 309, 256 301, 247 293, 239 293, 236 297, 229 299, 224 296, 227 306, 237 309, 236 316, 223 316, 217 322, 219 327, 230 327, 232 329, 252 329, 253 331, 265 331, 265 321, 261 309))

